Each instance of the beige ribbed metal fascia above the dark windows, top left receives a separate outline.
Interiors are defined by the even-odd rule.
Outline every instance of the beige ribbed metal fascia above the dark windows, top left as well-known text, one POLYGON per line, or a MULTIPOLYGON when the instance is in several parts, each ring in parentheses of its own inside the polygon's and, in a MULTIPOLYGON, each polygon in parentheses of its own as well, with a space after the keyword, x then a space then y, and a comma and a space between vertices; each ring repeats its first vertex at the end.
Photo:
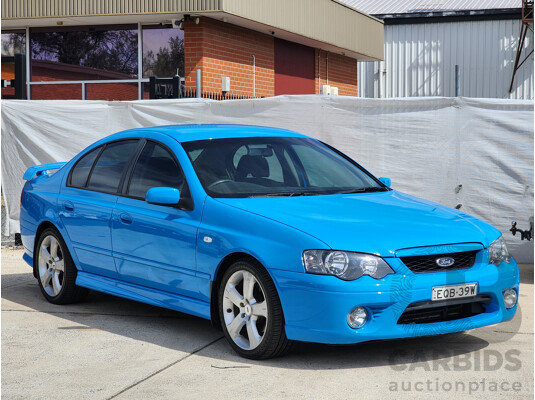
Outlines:
POLYGON ((220 0, 2 0, 2 19, 220 9, 220 0))

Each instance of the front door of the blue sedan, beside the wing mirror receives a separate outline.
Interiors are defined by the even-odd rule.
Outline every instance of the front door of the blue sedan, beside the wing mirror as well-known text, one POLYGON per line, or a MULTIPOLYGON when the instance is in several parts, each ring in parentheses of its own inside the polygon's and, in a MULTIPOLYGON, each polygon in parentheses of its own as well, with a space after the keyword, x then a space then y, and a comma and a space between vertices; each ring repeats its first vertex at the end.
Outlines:
POLYGON ((147 140, 113 211, 113 254, 120 279, 199 298, 195 237, 201 208, 202 204, 194 207, 172 150, 162 142, 147 140), (150 188, 162 186, 180 191, 179 204, 145 201, 150 188))

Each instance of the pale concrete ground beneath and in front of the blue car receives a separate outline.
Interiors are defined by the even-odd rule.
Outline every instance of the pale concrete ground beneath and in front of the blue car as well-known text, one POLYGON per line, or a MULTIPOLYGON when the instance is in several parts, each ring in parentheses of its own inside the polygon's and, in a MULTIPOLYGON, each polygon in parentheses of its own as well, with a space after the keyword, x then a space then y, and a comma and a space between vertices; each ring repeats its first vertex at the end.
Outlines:
POLYGON ((21 257, 2 248, 4 399, 533 398, 533 265, 509 322, 250 361, 179 312, 96 292, 50 304, 21 257))

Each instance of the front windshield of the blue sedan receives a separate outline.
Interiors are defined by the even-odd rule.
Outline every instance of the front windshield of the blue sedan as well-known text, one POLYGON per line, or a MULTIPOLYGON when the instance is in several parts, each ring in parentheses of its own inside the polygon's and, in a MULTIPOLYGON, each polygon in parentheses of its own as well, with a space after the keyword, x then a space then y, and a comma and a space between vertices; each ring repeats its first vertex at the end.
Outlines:
POLYGON ((307 196, 389 190, 355 162, 310 138, 182 143, 212 197, 307 196))

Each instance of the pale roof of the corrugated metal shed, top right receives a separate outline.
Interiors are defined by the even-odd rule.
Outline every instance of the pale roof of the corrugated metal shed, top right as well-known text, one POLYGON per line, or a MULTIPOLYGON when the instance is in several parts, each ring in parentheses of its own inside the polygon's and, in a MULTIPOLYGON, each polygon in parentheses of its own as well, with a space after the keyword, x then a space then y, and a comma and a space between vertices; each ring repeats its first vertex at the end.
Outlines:
POLYGON ((522 8, 522 0, 338 0, 371 15, 522 8))

